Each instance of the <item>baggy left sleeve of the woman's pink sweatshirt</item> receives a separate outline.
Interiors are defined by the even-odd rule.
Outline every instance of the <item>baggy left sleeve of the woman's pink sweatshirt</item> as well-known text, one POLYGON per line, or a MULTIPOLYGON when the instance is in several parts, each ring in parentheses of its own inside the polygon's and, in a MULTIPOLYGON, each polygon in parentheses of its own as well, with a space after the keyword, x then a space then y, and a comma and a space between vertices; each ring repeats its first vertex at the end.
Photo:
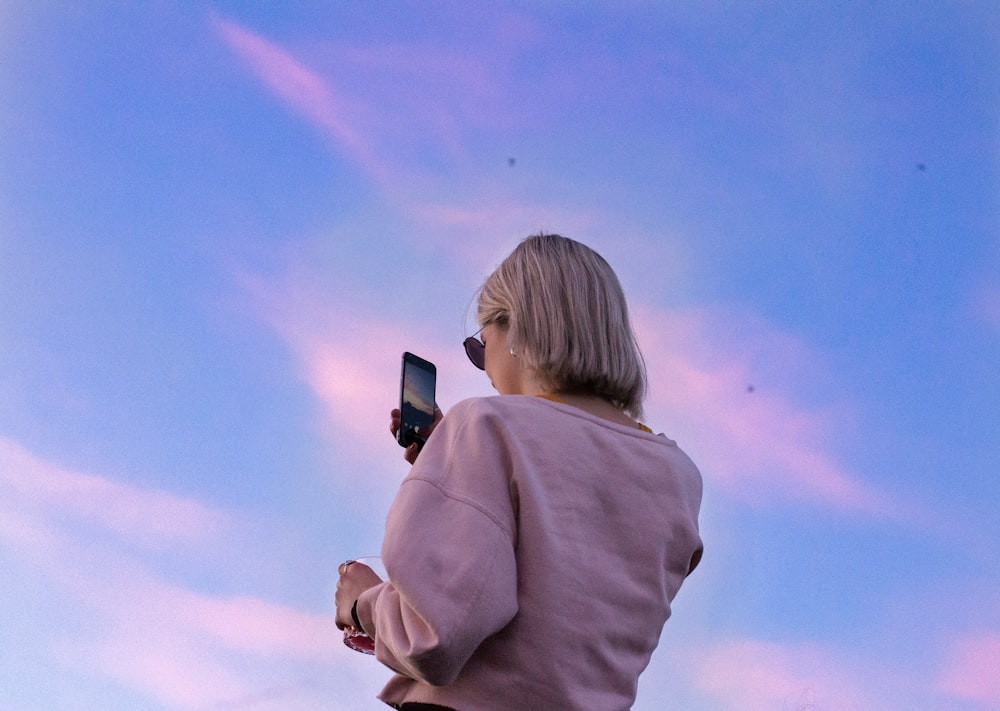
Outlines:
POLYGON ((390 508, 382 559, 391 582, 358 601, 379 661, 432 685, 454 681, 517 613, 502 427, 461 405, 431 436, 390 508))

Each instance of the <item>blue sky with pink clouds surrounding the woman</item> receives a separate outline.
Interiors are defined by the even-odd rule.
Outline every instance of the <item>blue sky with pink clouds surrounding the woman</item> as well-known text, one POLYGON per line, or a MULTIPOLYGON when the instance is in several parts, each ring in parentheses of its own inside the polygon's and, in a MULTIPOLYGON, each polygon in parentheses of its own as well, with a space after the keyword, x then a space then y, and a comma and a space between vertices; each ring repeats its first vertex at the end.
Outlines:
POLYGON ((0 1, 0 711, 377 709, 476 288, 597 249, 702 471, 635 709, 1000 709, 1000 6, 0 1))

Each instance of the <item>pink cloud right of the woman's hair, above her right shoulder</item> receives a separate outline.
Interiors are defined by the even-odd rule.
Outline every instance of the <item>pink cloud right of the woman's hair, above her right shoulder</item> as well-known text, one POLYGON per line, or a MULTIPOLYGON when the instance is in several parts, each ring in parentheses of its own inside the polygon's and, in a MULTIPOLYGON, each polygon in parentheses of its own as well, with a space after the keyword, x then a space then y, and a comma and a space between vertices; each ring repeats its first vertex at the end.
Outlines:
POLYGON ((755 504, 783 498, 898 512, 899 503, 834 456, 832 433, 845 423, 786 394, 798 372, 815 368, 803 344, 747 314, 639 310, 637 324, 650 367, 650 411, 674 423, 673 436, 730 494, 755 504), (719 333, 731 340, 720 345, 719 333), (762 375, 774 383, 770 389, 753 388, 762 375))

